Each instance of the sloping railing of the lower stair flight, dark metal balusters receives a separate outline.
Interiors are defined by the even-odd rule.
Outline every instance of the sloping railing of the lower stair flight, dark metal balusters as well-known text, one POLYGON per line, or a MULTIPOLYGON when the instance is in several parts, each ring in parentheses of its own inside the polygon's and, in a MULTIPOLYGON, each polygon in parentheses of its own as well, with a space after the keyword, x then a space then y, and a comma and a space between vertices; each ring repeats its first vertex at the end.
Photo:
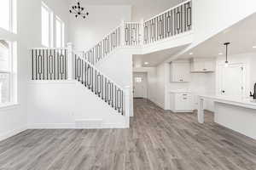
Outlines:
MULTIPOLYGON (((98 71, 89 61, 74 54, 75 79, 90 89, 100 99, 119 111, 125 113, 125 92, 123 88, 98 71)), ((129 107, 129 105, 127 105, 129 107)))

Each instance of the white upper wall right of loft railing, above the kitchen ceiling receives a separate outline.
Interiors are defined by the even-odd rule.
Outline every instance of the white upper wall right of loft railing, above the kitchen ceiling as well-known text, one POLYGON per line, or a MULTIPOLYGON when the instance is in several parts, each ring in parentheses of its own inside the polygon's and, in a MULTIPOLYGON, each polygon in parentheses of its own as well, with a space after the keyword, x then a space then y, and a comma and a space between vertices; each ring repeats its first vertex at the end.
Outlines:
POLYGON ((178 54, 170 56, 166 62, 177 59, 180 54, 195 48, 201 42, 217 35, 240 20, 256 12, 254 0, 195 0, 193 1, 193 32, 194 41, 188 48, 178 54))

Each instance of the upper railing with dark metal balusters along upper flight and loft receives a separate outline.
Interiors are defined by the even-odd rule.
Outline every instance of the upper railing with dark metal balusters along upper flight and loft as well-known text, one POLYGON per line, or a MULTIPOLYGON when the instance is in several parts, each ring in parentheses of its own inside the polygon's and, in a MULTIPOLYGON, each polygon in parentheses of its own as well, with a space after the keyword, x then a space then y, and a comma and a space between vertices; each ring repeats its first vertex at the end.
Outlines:
POLYGON ((83 51, 83 58, 96 65, 117 48, 146 48, 191 30, 192 0, 189 0, 142 23, 121 23, 93 48, 83 51))

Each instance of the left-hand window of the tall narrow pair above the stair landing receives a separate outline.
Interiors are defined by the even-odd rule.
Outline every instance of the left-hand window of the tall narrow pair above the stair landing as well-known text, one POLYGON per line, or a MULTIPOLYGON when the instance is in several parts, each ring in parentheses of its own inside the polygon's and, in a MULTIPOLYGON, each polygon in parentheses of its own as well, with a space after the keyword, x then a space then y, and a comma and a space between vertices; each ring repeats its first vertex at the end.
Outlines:
POLYGON ((42 3, 42 45, 53 47, 53 12, 42 3))

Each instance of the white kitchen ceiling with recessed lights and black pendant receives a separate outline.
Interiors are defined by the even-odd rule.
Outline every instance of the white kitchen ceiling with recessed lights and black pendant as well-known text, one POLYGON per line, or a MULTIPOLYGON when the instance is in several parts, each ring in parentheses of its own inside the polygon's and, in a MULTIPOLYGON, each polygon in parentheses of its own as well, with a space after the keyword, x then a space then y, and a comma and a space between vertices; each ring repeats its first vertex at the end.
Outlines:
POLYGON ((256 53, 256 14, 201 43, 181 58, 224 56, 224 42, 230 42, 229 54, 256 53))

